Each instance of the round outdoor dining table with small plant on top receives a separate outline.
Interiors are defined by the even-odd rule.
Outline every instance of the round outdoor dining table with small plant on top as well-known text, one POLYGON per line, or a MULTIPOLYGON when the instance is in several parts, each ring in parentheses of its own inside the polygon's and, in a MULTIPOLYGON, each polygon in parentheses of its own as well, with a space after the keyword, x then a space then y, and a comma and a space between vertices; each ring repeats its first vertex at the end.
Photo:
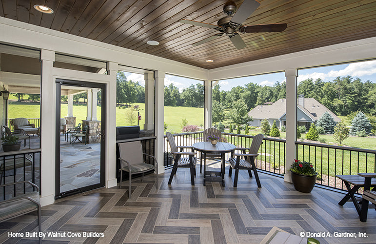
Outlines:
POLYGON ((217 144, 213 145, 211 142, 197 142, 192 145, 193 149, 204 153, 204 157, 206 157, 206 153, 215 153, 220 154, 221 156, 221 169, 220 171, 206 171, 206 167, 204 167, 204 185, 206 180, 208 181, 221 181, 222 186, 224 186, 224 172, 225 172, 225 155, 226 153, 235 151, 236 146, 227 143, 227 142, 217 142, 217 144))

